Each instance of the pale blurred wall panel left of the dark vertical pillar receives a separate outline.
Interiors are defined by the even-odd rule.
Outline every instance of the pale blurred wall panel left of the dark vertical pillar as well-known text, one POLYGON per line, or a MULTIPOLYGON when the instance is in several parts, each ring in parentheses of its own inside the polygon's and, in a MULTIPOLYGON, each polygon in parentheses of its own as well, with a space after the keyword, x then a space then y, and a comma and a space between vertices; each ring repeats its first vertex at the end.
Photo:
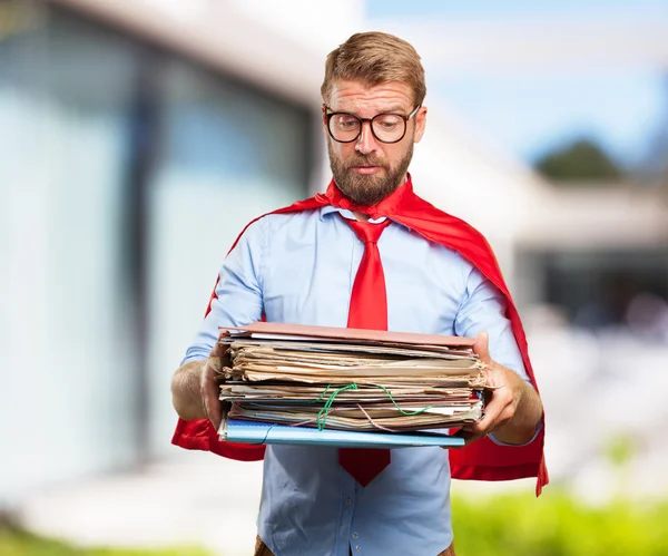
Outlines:
POLYGON ((61 82, 48 80, 57 68, 43 50, 21 45, 4 68, 22 79, 0 81, 0 505, 135 456, 119 241, 127 129, 115 95, 128 75, 104 43, 71 51, 52 38, 73 65, 61 82), (88 56, 106 65, 88 82, 108 95, 69 103, 61 86, 91 76, 88 56))

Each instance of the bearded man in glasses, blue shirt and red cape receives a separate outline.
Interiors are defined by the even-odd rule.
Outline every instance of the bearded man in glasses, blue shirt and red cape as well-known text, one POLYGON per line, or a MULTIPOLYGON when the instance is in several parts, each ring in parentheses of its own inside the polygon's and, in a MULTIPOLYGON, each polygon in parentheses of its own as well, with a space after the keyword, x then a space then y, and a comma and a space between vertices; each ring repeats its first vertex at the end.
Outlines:
MULTIPOLYGON (((493 255, 475 231, 412 192, 407 168, 424 134, 425 90, 420 57, 396 37, 357 33, 330 53, 322 95, 333 181, 325 195, 253 222, 230 251, 173 379, 181 418, 175 443, 236 459, 263 457, 263 449, 224 446, 215 436, 219 325, 264 315, 269 322, 456 334, 477 336, 474 350, 497 388, 485 417, 459 432, 478 441, 459 461, 450 455, 453 472, 547 482, 542 406, 493 255), (493 441, 479 440, 488 435, 493 441)), ((343 456, 336 448, 266 448, 257 555, 454 554, 446 450, 352 453, 353 464, 373 467, 365 486, 343 456)))

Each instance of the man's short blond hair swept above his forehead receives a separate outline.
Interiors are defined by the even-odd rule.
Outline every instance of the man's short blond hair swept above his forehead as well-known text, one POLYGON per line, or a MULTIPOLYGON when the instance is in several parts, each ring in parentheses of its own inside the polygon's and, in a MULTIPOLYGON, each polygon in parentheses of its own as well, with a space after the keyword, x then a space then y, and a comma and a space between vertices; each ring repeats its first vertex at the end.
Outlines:
POLYGON ((362 81, 366 87, 402 82, 413 89, 415 106, 426 95, 424 68, 420 56, 405 40, 384 32, 358 32, 332 50, 325 62, 321 87, 323 100, 330 101, 337 80, 362 81))

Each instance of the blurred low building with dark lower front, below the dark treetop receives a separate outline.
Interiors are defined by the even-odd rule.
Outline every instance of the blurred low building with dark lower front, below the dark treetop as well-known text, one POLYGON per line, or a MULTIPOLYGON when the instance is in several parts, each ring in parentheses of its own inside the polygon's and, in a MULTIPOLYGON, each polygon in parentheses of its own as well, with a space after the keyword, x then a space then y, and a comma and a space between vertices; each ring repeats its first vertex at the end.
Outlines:
MULTIPOLYGON (((630 183, 553 185, 532 199, 515 245, 527 305, 576 325, 628 324, 635 299, 668 301, 668 197, 630 183)), ((668 338, 668 330, 665 332, 668 338)))

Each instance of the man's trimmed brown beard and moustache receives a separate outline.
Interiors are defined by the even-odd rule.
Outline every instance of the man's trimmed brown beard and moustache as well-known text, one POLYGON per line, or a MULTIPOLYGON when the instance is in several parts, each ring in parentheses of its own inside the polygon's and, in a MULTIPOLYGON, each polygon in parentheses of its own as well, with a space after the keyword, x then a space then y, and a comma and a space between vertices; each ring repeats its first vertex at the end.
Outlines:
POLYGON ((330 167, 336 185, 350 201, 362 206, 377 205, 385 197, 394 193, 403 183, 403 177, 413 158, 413 140, 409 138, 409 150, 395 168, 373 154, 362 155, 357 152, 343 162, 332 148, 332 138, 327 137, 327 152, 330 167), (369 176, 353 172, 355 166, 380 166, 383 168, 369 176))

